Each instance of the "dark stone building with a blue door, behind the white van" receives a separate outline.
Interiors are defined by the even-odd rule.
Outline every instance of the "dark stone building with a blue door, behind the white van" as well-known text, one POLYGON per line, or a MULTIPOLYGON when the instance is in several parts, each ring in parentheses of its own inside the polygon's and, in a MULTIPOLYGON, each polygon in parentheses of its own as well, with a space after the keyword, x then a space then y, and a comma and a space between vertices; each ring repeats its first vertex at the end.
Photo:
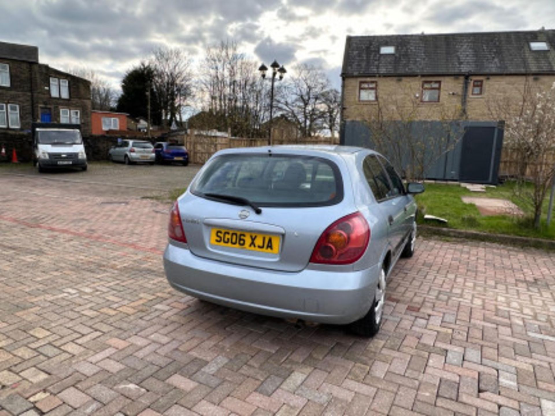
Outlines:
POLYGON ((32 122, 80 124, 90 134, 90 82, 38 61, 38 48, 0 42, 0 133, 32 122))

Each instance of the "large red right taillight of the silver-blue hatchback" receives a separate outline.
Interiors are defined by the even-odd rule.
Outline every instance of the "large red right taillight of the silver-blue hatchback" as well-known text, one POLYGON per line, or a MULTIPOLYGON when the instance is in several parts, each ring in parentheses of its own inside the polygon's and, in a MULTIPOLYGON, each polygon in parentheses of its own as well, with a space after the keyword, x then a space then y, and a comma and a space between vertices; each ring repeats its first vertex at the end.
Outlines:
POLYGON ((359 260, 370 241, 370 227, 360 212, 338 219, 320 235, 310 263, 350 264, 359 260))

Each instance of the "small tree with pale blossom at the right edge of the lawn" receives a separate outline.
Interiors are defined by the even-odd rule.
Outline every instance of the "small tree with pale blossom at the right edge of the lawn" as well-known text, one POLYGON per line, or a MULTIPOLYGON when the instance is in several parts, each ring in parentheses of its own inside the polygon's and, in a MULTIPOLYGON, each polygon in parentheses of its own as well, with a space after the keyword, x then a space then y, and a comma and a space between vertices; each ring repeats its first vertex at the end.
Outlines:
POLYGON ((540 228, 542 205, 555 176, 555 83, 542 89, 528 78, 518 101, 498 100, 490 110, 506 121, 505 145, 517 157, 516 196, 534 212, 534 228, 540 228), (532 187, 529 184, 532 184, 532 187))

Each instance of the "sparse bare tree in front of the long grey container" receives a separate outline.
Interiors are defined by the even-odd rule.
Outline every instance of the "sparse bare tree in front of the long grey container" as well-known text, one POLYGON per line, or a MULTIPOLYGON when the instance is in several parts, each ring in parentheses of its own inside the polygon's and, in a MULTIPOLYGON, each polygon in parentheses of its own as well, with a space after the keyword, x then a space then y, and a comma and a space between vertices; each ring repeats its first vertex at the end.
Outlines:
POLYGON ((464 135, 458 106, 427 110, 410 87, 403 94, 380 96, 365 110, 361 118, 370 130, 372 145, 409 181, 424 179, 426 171, 464 135))

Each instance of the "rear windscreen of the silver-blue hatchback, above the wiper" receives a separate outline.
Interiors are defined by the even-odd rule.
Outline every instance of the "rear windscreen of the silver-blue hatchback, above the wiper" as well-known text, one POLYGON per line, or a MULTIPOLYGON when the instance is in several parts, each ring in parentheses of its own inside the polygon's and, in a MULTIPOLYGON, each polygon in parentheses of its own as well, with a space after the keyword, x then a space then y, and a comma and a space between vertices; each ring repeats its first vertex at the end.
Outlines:
POLYGON ((343 182, 325 158, 250 153, 214 158, 191 192, 242 197, 263 207, 315 207, 340 202, 343 182))

